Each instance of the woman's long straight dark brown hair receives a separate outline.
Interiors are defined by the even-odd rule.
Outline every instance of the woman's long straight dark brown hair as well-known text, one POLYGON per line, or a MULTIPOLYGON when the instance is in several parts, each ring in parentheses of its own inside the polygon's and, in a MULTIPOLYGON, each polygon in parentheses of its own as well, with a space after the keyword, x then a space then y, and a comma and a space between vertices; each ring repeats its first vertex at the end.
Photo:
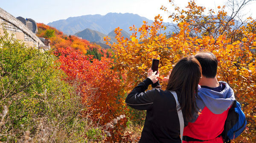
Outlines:
POLYGON ((195 97, 198 96, 198 83, 202 68, 195 57, 183 57, 172 69, 166 90, 180 91, 180 108, 183 116, 190 120, 193 113, 198 113, 195 97))

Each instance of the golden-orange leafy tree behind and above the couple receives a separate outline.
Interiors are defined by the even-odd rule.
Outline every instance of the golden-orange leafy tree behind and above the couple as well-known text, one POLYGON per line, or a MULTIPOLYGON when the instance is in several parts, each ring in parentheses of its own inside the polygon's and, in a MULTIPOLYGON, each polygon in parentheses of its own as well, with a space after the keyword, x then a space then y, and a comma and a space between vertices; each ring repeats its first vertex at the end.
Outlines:
MULTIPOLYGON (((246 26, 232 28, 234 20, 227 20, 224 9, 218 8, 217 17, 212 17, 213 10, 207 16, 205 8, 197 6, 194 1, 190 1, 186 8, 180 10, 176 7, 177 13, 170 15, 179 22, 179 31, 171 37, 161 33, 166 27, 160 15, 155 17, 151 26, 144 22, 139 29, 130 27, 134 31, 130 39, 124 39, 122 29, 117 28, 117 42, 108 43, 115 53, 114 71, 126 74, 125 92, 129 92, 146 77, 153 58, 160 59, 161 80, 181 57, 199 51, 212 52, 219 61, 218 80, 226 81, 234 89, 248 121, 244 133, 233 142, 255 143, 256 21, 248 18, 246 26), (140 32, 140 37, 137 32, 140 32)), ((109 38, 105 40, 108 42, 109 38)))

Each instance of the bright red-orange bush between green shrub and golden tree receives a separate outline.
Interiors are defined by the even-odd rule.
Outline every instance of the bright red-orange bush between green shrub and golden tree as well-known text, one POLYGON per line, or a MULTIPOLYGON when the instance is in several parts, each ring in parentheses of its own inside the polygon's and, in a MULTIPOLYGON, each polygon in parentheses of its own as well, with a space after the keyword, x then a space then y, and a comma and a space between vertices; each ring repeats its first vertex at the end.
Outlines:
MULTIPOLYGON (((60 69, 66 74, 70 84, 78 86, 82 101, 87 110, 84 112, 95 123, 104 126, 114 118, 124 114, 126 106, 123 99, 122 84, 119 74, 113 72, 113 59, 102 57, 101 60, 86 56, 81 51, 67 47, 55 51, 61 63, 60 69)), ((114 129, 111 129, 111 138, 119 141, 124 136, 127 119, 120 120, 114 129)))

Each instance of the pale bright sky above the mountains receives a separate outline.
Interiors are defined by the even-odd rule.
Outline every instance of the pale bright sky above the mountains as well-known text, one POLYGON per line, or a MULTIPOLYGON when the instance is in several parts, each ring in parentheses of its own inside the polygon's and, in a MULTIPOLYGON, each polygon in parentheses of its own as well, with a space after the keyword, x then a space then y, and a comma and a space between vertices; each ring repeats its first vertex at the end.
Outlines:
MULTIPOLYGON (((189 0, 174 0, 177 6, 183 8, 189 0)), ((207 9, 223 6, 223 0, 195 0, 198 5, 207 9)), ((15 17, 32 18, 38 23, 49 23, 55 20, 67 19, 87 14, 105 15, 109 12, 133 13, 150 20, 160 14, 164 21, 169 21, 168 13, 160 10, 166 6, 173 11, 169 0, 0 0, 0 7, 15 17)), ((252 14, 256 18, 253 2, 244 9, 244 14, 252 14), (254 13, 254 14, 253 14, 254 13)))

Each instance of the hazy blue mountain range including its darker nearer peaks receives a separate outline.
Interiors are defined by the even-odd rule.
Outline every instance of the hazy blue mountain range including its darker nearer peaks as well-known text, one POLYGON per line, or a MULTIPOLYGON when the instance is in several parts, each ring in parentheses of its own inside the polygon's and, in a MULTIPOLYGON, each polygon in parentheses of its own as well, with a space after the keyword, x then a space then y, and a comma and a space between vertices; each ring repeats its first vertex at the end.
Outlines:
MULTIPOLYGON (((122 35, 125 38, 129 38, 133 31, 130 31, 131 26, 139 28, 143 25, 143 21, 146 21, 148 25, 153 23, 153 20, 149 20, 145 17, 141 17, 138 14, 131 13, 108 13, 106 15, 84 15, 79 17, 69 17, 66 20, 57 20, 48 23, 48 26, 55 27, 56 29, 64 32, 67 35, 76 35, 82 39, 88 40, 95 43, 103 43, 103 37, 110 37, 110 43, 116 42, 114 37, 114 29, 119 27, 122 30, 122 35)), ((172 33, 175 31, 177 24, 166 23, 169 25, 165 31, 172 33)), ((140 33, 137 33, 140 36, 140 33)))

